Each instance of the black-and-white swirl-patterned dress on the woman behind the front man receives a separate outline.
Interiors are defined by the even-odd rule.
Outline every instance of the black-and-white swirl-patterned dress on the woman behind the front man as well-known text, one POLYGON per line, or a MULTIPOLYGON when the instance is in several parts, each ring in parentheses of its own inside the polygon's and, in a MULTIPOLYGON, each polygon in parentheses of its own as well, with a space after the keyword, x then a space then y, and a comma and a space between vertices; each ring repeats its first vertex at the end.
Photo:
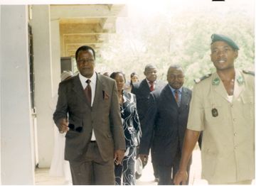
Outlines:
POLYGON ((123 92, 124 103, 120 105, 126 152, 121 165, 114 165, 115 185, 135 185, 136 147, 142 136, 136 108, 136 96, 123 92), (121 184, 122 180, 122 184, 121 184))

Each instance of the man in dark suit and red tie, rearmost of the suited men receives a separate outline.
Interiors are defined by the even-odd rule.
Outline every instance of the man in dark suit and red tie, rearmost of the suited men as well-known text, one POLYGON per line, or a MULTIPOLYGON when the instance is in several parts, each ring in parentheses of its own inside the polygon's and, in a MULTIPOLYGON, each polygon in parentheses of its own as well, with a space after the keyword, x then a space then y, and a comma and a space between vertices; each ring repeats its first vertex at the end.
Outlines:
MULTIPOLYGON (((144 70, 144 75, 146 78, 142 80, 141 82, 137 82, 132 84, 132 93, 136 95, 137 99, 137 111, 139 114, 139 122, 142 126, 142 135, 144 133, 144 128, 147 127, 147 124, 145 124, 145 115, 146 111, 149 108, 149 94, 153 90, 161 89, 164 87, 165 83, 159 80, 156 80, 157 76, 157 70, 155 65, 146 65, 144 70)), ((154 168, 154 176, 156 180, 158 180, 158 173, 157 168, 154 163, 154 149, 151 149, 151 161, 154 168)), ((147 157, 144 157, 145 160, 143 160, 143 165, 145 166, 147 163, 147 157)), ((140 177, 141 175, 137 176, 140 177)))

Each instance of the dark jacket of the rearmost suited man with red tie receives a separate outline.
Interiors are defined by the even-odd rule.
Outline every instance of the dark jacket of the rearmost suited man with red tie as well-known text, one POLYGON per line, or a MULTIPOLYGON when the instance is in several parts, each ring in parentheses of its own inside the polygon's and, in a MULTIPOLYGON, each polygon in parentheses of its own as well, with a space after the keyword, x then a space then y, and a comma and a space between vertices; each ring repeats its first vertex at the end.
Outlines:
MULTIPOLYGON (((164 87, 164 85, 166 85, 165 82, 156 80, 155 90, 161 89, 162 87, 164 87)), ((150 94, 149 84, 146 82, 146 79, 142 80, 141 82, 134 83, 132 85, 131 92, 132 94, 136 95, 139 121, 143 127, 145 123, 144 120, 145 120, 146 111, 149 108, 149 94, 150 94)))

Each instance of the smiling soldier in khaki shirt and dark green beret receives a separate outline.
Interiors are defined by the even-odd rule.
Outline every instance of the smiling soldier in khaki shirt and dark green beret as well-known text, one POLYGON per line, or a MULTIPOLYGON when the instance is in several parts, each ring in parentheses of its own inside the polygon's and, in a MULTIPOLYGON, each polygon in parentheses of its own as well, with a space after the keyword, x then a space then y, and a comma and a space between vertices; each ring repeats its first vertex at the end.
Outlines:
POLYGON ((254 72, 236 70, 238 45, 212 35, 210 58, 216 72, 193 88, 181 164, 175 184, 187 179, 186 167, 200 131, 202 178, 209 184, 251 184, 255 178, 254 72))

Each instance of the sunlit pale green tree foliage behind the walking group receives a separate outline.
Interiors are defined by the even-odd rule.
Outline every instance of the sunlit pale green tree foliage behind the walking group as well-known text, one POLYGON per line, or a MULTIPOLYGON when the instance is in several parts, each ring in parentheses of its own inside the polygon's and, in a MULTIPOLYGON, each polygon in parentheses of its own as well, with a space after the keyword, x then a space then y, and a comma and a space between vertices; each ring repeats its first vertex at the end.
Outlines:
POLYGON ((240 47, 235 67, 254 69, 254 18, 245 10, 230 9, 216 13, 212 9, 161 14, 153 18, 120 18, 119 32, 110 35, 103 45, 97 70, 100 72, 137 72, 144 79, 144 67, 153 63, 158 77, 166 80, 169 65, 178 63, 186 74, 185 85, 193 87, 193 79, 214 72, 210 61, 210 35, 222 33, 233 38, 240 47))

